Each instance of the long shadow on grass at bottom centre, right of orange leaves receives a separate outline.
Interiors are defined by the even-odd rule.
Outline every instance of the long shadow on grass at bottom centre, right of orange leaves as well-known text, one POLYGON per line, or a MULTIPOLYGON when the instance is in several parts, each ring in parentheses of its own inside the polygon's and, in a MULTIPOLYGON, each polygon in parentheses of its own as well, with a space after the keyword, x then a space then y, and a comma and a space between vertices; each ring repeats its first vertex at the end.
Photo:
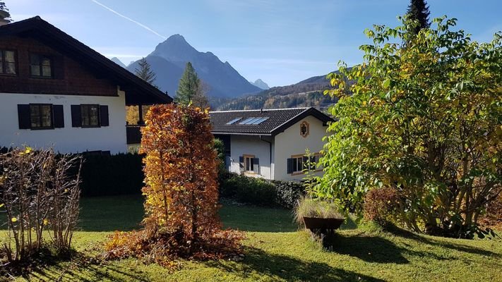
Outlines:
POLYGON ((285 255, 270 254, 253 247, 245 247, 246 257, 238 263, 220 261, 205 262, 232 274, 247 278, 256 271, 262 278, 286 281, 383 281, 357 272, 337 269, 320 262, 299 260, 285 255), (265 276, 265 277, 263 277, 265 276))

